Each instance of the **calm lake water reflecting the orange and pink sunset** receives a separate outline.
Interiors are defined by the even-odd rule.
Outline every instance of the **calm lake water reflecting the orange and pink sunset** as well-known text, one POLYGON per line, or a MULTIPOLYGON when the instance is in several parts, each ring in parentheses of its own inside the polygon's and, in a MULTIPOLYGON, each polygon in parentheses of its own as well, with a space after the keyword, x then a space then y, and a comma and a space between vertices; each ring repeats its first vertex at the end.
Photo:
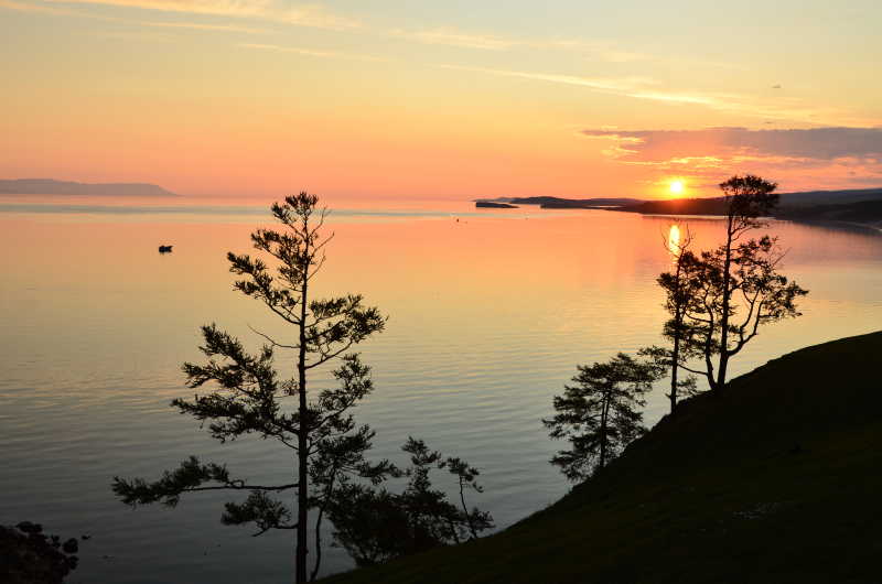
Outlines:
MULTIPOLYGON (((473 502, 499 527, 564 494, 568 484, 547 464, 560 445, 539 419, 577 364, 659 340, 654 278, 669 261, 663 239, 671 220, 330 203, 341 210, 320 286, 361 292, 390 316, 362 346, 376 392, 357 415, 378 432, 375 455, 404 463, 398 446, 415 435, 465 457, 486 487, 473 502)), ((228 462, 254 480, 290 476, 287 452, 250 440, 220 445, 168 407, 190 393, 180 365, 200 359, 201 324, 254 345, 249 325, 284 335, 232 290, 224 259, 248 250, 265 216, 244 203, 0 198, 0 523, 29 519, 64 537, 92 534, 72 582, 290 578, 291 533, 251 538, 220 526, 223 495, 131 510, 109 488, 114 475, 155 477, 189 454, 228 462), (159 244, 174 252, 159 256, 159 244)), ((690 225, 699 246, 719 236, 717 221, 690 225)), ((882 328, 880 235, 770 230, 790 249, 785 273, 811 293, 805 316, 763 331, 733 375, 882 328)), ((648 421, 665 408, 657 391, 648 421)), ((351 563, 329 549, 324 566, 351 563)))

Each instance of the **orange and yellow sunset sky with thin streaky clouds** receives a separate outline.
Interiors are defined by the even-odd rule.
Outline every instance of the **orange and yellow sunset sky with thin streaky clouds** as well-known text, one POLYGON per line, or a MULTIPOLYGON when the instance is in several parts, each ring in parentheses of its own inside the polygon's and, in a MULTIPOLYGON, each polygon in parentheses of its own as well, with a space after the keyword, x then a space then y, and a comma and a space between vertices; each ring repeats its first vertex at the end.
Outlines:
POLYGON ((182 194, 882 186, 882 3, 0 0, 0 179, 182 194))

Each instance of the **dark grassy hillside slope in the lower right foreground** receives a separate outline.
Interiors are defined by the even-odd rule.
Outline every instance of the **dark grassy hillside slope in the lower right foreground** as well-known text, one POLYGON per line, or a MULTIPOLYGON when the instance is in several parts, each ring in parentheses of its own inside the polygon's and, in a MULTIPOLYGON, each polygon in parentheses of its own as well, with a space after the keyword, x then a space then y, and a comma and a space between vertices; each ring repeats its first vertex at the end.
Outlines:
POLYGON ((882 582, 880 355, 874 333, 770 361, 502 533, 330 581, 882 582))

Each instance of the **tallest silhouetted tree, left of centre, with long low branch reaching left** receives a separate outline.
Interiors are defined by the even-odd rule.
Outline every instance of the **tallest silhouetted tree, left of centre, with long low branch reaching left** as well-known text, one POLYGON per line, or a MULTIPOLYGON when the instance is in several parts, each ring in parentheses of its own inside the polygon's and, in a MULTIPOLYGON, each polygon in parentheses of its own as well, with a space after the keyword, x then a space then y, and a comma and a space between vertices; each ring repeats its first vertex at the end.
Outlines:
MULTIPOLYGON (((381 480, 392 471, 386 461, 370 464, 365 453, 374 432, 357 426, 352 409, 373 389, 370 369, 357 354, 347 353, 374 333, 383 331, 386 317, 375 307, 363 305, 361 295, 325 300, 313 299, 313 278, 324 261, 324 248, 333 236, 322 227, 326 209, 308 193, 286 197, 272 205, 272 215, 282 229, 258 229, 251 234, 254 247, 271 258, 272 268, 260 258, 229 252, 229 270, 243 277, 235 289, 260 301, 284 324, 293 327, 291 338, 279 342, 257 332, 267 344, 255 355, 214 324, 202 327, 206 365, 184 364, 187 385, 200 388, 213 382, 215 391, 194 399, 175 399, 172 405, 201 422, 208 421, 212 435, 223 441, 244 434, 275 439, 295 453, 294 480, 276 485, 254 485, 230 476, 226 466, 201 464, 191 457, 174 472, 147 483, 116 477, 114 490, 129 505, 161 501, 174 506, 184 493, 233 489, 249 491, 245 502, 228 502, 222 520, 227 524, 255 523, 260 534, 270 529, 291 529, 295 537, 295 577, 306 582, 309 509, 319 507, 316 531, 321 528, 323 505, 333 496, 342 477, 356 475, 381 480), (293 376, 280 379, 275 368, 275 352, 292 350, 293 376), (334 359, 340 366, 333 376, 336 389, 308 391, 309 372, 334 359), (311 399, 312 397, 312 399, 311 399), (288 405, 291 398, 294 403, 288 405), (310 480, 312 479, 312 490, 310 480), (204 486, 212 484, 212 486, 204 486), (269 493, 295 489, 293 512, 269 493), (295 520, 292 521, 292 519, 295 520)), ((316 533, 316 547, 321 540, 316 533)), ((321 555, 316 550, 319 572, 321 555)))

